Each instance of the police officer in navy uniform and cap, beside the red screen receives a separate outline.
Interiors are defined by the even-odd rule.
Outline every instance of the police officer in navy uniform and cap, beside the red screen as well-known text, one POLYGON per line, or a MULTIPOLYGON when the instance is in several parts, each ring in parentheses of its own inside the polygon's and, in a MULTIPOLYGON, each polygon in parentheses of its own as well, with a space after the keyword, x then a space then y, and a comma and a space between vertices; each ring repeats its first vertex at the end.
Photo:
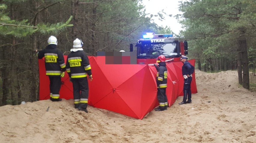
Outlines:
POLYGON ((182 66, 182 75, 184 78, 184 84, 183 84, 183 101, 179 104, 186 104, 186 103, 192 103, 191 100, 191 81, 192 81, 192 73, 194 73, 194 66, 192 66, 187 61, 186 56, 181 56, 181 62, 183 63, 182 66), (187 100, 187 101, 186 101, 187 100))

